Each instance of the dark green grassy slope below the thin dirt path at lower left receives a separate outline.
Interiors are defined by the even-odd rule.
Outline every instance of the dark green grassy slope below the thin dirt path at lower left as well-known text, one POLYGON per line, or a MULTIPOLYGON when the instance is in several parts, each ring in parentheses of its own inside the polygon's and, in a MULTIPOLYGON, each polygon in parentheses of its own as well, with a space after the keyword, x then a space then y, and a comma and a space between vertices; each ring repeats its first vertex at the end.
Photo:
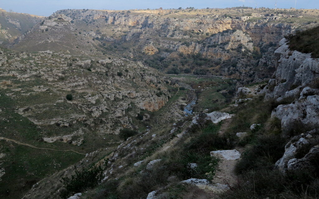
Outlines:
POLYGON ((81 160, 84 155, 35 149, 0 140, 0 151, 5 153, 1 167, 6 174, 0 181, 0 197, 21 198, 37 181, 81 160))

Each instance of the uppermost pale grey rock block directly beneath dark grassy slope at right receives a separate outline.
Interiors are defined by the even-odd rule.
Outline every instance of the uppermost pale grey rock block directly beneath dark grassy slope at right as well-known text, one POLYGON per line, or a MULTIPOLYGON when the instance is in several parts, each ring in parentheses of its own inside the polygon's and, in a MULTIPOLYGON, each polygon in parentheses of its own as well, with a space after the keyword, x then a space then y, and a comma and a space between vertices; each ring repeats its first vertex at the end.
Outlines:
POLYGON ((282 39, 280 47, 275 51, 278 57, 274 79, 269 80, 264 92, 266 98, 296 97, 303 87, 316 87, 319 80, 319 59, 311 58, 310 54, 291 51, 282 39))

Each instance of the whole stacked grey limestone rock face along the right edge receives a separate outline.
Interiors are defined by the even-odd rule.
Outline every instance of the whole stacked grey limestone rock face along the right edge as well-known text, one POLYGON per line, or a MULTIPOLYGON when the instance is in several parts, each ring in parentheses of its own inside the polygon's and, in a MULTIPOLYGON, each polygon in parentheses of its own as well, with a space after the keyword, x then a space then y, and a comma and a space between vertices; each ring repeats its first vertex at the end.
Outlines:
POLYGON ((280 169, 314 169, 318 157, 319 59, 311 54, 291 51, 286 39, 275 51, 278 62, 273 79, 263 89, 266 99, 282 103, 271 116, 281 121, 284 137, 292 137, 284 156, 277 161, 280 169), (303 151, 304 150, 304 151, 303 151), (301 152, 303 151, 303 152, 301 152), (300 154, 301 153, 301 154, 300 154))

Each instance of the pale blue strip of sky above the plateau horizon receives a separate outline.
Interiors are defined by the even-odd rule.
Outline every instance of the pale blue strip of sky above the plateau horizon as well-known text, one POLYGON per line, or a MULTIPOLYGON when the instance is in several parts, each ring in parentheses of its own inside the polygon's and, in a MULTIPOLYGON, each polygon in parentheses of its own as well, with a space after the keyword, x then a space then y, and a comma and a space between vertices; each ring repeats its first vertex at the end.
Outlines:
MULTIPOLYGON (((235 6, 274 8, 276 0, 0 0, 6 11, 49 16, 62 9, 156 9, 169 8, 226 8, 235 6)), ((295 0, 277 0, 278 8, 291 8, 295 0)), ((319 9, 319 0, 297 0, 296 8, 319 9)))

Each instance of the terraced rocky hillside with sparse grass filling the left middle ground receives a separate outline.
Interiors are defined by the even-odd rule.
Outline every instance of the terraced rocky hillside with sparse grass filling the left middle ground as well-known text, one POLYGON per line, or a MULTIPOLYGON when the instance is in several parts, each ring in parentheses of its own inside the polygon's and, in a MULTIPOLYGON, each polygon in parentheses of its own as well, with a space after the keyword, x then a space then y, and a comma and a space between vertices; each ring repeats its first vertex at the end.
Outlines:
POLYGON ((155 69, 123 58, 7 50, 0 56, 0 137, 5 156, 0 183, 10 184, 1 195, 11 198, 23 193, 17 192, 19 188, 30 188, 83 154, 115 146, 121 129, 145 128, 136 122, 137 113, 160 110, 176 92, 175 83, 155 69), (47 148, 66 154, 59 157, 47 148), (34 160, 33 153, 44 154, 34 160), (16 166, 9 167, 12 162, 16 166))

